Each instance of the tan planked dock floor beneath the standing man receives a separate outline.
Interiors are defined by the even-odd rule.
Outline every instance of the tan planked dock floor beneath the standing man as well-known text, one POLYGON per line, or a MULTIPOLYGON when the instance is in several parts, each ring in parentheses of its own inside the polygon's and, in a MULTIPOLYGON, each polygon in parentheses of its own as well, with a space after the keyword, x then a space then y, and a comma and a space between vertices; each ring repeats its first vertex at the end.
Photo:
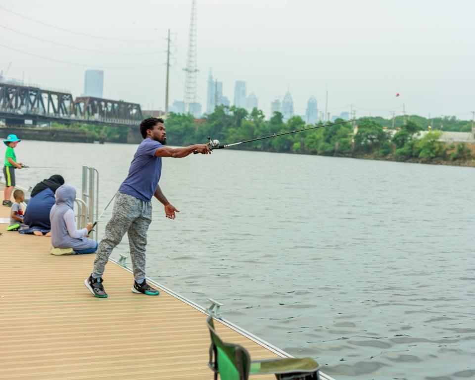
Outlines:
MULTIPOLYGON (((0 207, 6 218, 9 208, 0 207)), ((213 379, 203 311, 165 291, 132 293, 132 274, 113 262, 104 275, 109 297, 96 298, 84 285, 95 254, 53 256, 50 238, 6 226, 0 224, 0 379, 213 379)), ((279 356, 215 325, 254 360, 279 356)))

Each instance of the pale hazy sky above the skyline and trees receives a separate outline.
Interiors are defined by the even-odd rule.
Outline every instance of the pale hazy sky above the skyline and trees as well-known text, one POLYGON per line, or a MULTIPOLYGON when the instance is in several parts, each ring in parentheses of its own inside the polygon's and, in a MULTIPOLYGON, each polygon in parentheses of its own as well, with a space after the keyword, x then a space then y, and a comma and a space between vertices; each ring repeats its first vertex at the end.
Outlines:
MULTIPOLYGON (((167 30, 173 33, 170 104, 182 100, 191 0, 16 0, 0 2, 0 45, 76 63, 48 61, 0 46, 0 70, 44 87, 84 91, 84 71, 104 69, 104 97, 164 108, 167 30), (61 31, 6 11, 89 35, 61 31), (102 52, 78 50, 21 35, 102 52), (108 52, 154 54, 118 55, 108 52), (113 69, 132 67, 133 69, 113 69)), ((208 71, 231 102, 236 80, 259 108, 287 88, 304 114, 315 95, 320 110, 357 116, 392 110, 471 119, 475 110, 473 0, 197 0, 198 100, 206 109, 208 71), (400 93, 400 97, 395 97, 400 93)))

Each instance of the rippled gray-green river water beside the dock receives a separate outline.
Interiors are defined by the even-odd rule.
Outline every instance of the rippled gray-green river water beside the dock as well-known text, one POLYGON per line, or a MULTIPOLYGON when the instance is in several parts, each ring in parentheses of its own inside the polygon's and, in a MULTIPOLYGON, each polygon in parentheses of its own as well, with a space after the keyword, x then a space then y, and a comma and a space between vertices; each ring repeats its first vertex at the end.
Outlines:
MULTIPOLYGON (((20 162, 64 169, 22 169, 17 184, 59 173, 79 189, 81 165, 95 166, 102 209, 135 150, 23 141, 20 162)), ((236 150, 163 161, 181 212, 153 201, 148 277, 220 300, 225 318, 336 379, 475 378, 473 168, 236 150)))

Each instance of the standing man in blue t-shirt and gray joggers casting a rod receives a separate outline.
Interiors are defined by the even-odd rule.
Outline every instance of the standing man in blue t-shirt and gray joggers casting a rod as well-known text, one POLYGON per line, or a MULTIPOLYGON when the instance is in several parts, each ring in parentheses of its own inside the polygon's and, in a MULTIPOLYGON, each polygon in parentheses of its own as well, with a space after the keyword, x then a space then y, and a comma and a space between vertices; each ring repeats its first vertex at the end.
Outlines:
POLYGON ((147 230, 152 220, 151 198, 155 196, 165 207, 165 216, 175 219, 177 210, 163 194, 158 181, 162 169, 162 157, 186 157, 193 151, 211 153, 208 144, 194 144, 182 148, 164 146, 167 134, 163 119, 149 117, 140 123, 143 141, 130 164, 129 174, 119 187, 114 201, 112 217, 105 227, 100 241, 91 276, 84 280, 86 287, 96 297, 106 298, 102 274, 112 250, 125 233, 129 236, 130 256, 134 270, 134 293, 158 295, 160 292, 145 281, 145 246, 147 230))

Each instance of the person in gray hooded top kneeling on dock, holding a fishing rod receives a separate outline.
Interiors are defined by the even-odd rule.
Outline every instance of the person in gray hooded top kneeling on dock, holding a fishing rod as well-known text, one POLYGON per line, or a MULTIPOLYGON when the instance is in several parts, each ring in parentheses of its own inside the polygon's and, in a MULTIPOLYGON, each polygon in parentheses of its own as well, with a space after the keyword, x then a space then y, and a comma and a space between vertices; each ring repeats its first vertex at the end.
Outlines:
POLYGON ((55 198, 56 203, 49 212, 51 245, 54 248, 73 248, 75 254, 94 253, 97 242, 89 238, 93 224, 77 230, 74 222, 76 189, 71 185, 62 185, 56 190, 55 198))

